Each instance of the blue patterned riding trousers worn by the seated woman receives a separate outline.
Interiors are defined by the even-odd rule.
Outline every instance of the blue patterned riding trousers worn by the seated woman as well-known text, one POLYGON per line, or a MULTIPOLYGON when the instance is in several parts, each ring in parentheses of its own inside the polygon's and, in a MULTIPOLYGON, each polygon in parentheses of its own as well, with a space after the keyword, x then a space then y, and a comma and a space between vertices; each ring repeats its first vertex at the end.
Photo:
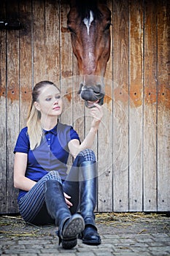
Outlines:
POLYGON ((47 213, 47 208, 45 206, 45 182, 47 180, 53 179, 59 181, 63 184, 63 192, 71 196, 71 202, 73 206, 70 209, 71 214, 77 212, 79 207, 79 182, 78 173, 79 166, 84 161, 96 162, 95 154, 90 149, 85 149, 77 155, 73 162, 72 168, 65 181, 61 180, 57 170, 52 170, 42 177, 35 185, 29 190, 26 195, 20 198, 18 206, 20 215, 26 222, 32 223, 34 225, 47 225, 54 224, 55 220, 50 217, 47 213))

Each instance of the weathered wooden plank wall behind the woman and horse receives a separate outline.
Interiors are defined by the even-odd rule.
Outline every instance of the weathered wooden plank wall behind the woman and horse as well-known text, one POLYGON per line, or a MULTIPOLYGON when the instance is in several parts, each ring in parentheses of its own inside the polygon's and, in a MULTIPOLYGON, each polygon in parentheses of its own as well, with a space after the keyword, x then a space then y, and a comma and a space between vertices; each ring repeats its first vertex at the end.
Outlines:
MULTIPOLYGON (((112 48, 104 118, 93 146, 96 211, 170 211, 170 3, 110 0, 108 5, 112 48)), ((61 121, 81 138, 90 127, 88 109, 77 95, 67 12, 66 1, 1 1, 0 19, 19 19, 24 28, 0 31, 0 213, 18 212, 12 151, 36 82, 61 86, 61 121)))

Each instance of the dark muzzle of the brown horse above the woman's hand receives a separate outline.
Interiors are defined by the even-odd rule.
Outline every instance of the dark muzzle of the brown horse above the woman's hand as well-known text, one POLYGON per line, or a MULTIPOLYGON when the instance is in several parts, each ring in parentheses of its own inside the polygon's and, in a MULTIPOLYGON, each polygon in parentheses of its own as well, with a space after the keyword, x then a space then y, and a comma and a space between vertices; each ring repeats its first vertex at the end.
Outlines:
POLYGON ((85 100, 85 106, 87 108, 94 108, 94 103, 99 105, 104 104, 104 90, 102 89, 101 85, 83 86, 81 84, 78 94, 80 94, 80 97, 85 100))

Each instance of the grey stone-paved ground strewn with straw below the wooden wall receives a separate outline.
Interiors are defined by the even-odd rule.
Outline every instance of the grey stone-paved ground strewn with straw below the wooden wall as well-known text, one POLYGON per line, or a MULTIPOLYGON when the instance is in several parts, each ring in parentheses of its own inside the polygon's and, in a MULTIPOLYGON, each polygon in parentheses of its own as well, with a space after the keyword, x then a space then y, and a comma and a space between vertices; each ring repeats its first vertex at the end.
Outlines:
POLYGON ((99 246, 77 240, 73 249, 58 246, 54 225, 34 226, 19 215, 0 216, 0 255, 63 256, 170 256, 169 214, 96 214, 99 246))

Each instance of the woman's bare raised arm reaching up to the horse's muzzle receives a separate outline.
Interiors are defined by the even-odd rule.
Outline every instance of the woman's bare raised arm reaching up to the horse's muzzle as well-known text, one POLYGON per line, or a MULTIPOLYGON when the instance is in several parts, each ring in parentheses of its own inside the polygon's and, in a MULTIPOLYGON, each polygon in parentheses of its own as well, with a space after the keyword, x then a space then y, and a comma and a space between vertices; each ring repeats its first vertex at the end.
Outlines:
POLYGON ((91 123, 90 131, 85 137, 85 140, 83 140, 81 144, 79 140, 69 141, 69 151, 74 158, 77 156, 77 154, 79 154, 80 151, 86 148, 91 148, 93 146, 98 127, 101 123, 101 118, 103 117, 103 110, 101 105, 98 105, 96 103, 94 105, 95 108, 90 108, 90 115, 93 117, 93 121, 91 123))

